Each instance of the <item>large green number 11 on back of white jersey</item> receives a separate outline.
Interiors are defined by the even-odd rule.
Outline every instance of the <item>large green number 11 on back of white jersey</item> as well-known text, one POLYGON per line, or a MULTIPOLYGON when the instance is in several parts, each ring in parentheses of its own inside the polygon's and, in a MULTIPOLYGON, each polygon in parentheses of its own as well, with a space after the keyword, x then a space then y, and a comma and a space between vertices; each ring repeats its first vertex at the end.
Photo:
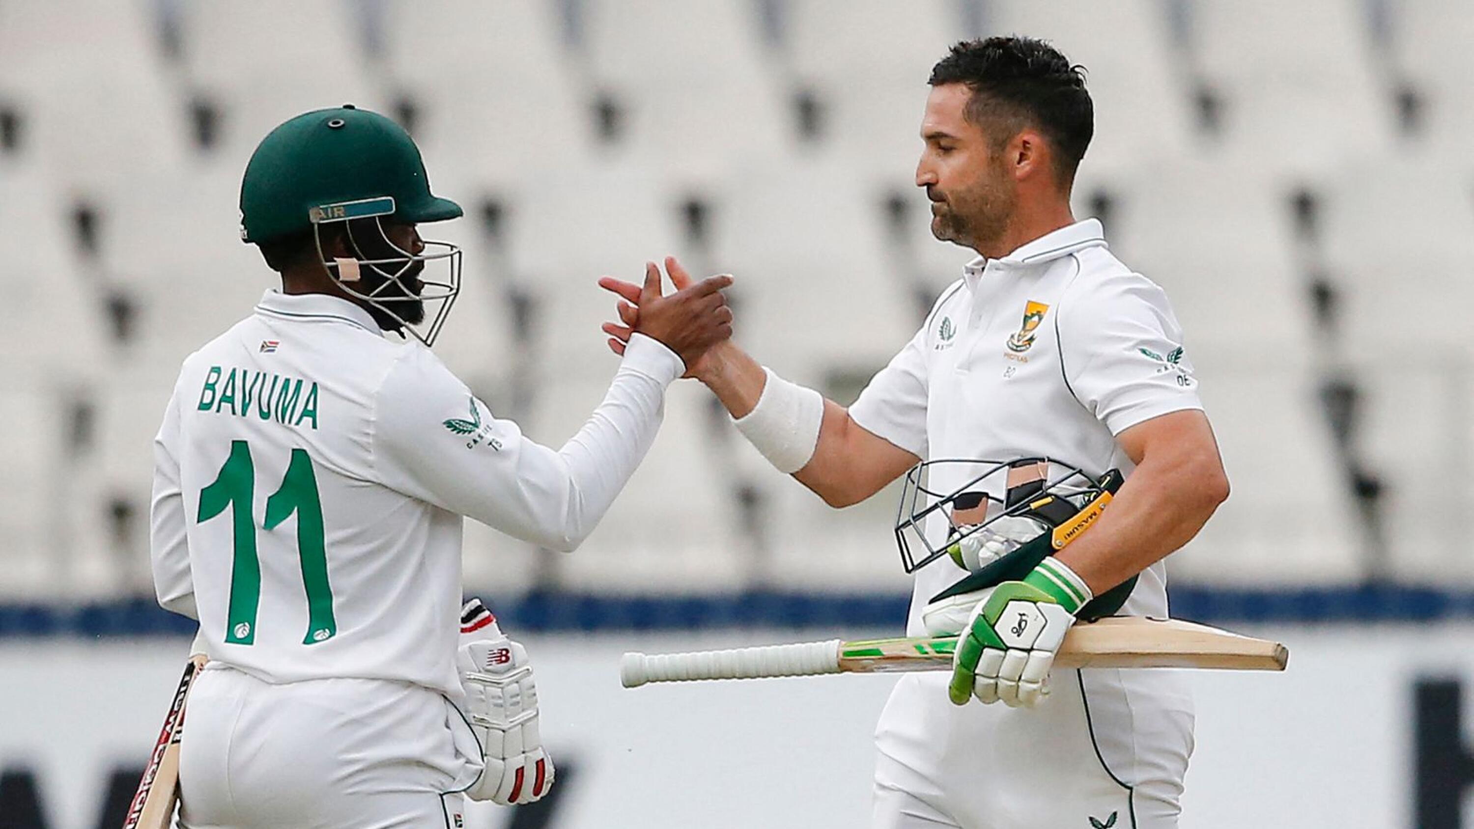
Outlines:
MULTIPOLYGON (((226 642, 254 645, 256 608, 261 605, 261 558, 256 554, 256 523, 251 514, 255 502, 256 474, 251 446, 230 442, 230 456, 220 467, 215 481, 199 493, 199 523, 230 508, 234 554, 230 568, 230 611, 226 642)), ((282 486, 267 498, 262 527, 274 530, 296 514, 296 549, 302 560, 302 585, 307 589, 307 636, 304 645, 326 642, 338 633, 333 618, 333 589, 327 582, 327 549, 323 540, 323 504, 317 495, 317 474, 304 449, 292 449, 282 486)))

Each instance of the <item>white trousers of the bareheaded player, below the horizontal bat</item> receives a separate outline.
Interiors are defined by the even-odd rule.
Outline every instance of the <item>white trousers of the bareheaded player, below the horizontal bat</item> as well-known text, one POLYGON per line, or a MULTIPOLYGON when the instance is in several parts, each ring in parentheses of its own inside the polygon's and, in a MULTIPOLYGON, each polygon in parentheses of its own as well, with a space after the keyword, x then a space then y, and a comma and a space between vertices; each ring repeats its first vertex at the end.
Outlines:
POLYGON ((1036 708, 904 676, 876 727, 874 829, 1176 829, 1192 754, 1178 671, 1055 670, 1036 708))

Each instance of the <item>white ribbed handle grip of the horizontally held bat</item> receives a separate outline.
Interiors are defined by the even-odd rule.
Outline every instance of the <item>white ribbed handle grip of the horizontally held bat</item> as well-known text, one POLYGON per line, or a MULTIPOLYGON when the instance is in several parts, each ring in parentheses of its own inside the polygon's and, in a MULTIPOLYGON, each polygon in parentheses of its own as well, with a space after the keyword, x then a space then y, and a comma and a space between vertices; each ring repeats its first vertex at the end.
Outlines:
POLYGON ((647 682, 690 682, 697 679, 761 679, 774 676, 818 676, 839 673, 839 639, 764 645, 730 651, 688 654, 625 654, 619 661, 619 680, 625 688, 647 682))

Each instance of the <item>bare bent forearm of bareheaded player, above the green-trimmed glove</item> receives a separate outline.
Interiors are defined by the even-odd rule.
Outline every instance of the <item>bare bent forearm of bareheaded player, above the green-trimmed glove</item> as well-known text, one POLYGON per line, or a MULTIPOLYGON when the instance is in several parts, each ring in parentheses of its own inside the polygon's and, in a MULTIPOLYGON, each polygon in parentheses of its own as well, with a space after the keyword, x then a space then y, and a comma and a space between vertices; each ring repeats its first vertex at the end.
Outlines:
POLYGON ((1192 540, 1226 496, 1216 458, 1147 459, 1095 527, 1057 558, 1098 596, 1192 540))

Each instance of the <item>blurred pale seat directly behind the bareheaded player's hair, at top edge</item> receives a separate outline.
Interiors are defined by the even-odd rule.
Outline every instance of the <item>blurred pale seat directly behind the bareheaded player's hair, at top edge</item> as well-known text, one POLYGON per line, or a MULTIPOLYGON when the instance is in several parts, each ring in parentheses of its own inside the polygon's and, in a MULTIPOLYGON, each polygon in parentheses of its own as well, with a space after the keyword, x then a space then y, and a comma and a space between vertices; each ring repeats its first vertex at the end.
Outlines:
POLYGON ((1095 103, 1095 137, 1085 165, 1132 169, 1147 159, 1188 152, 1190 78, 1172 49, 1162 3, 991 0, 985 9, 988 34, 1039 37, 1085 66, 1095 103), (1131 49, 1122 49, 1123 43, 1131 49))

